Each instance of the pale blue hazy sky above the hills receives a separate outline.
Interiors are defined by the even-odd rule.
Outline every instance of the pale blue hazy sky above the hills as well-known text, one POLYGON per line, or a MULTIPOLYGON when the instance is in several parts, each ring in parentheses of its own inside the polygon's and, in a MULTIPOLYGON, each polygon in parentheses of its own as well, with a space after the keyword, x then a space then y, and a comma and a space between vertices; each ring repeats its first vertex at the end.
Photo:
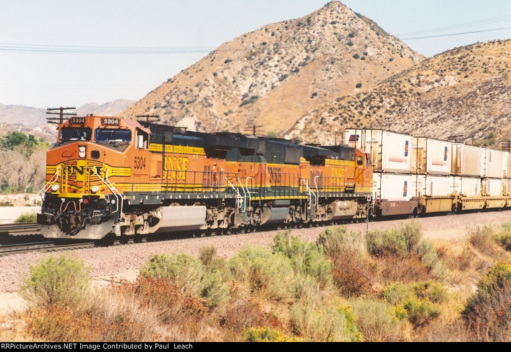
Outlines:
MULTIPOLYGON (((138 100, 220 44, 326 0, 0 0, 0 104, 138 100)), ((415 51, 511 38, 511 0, 343 0, 415 51)))

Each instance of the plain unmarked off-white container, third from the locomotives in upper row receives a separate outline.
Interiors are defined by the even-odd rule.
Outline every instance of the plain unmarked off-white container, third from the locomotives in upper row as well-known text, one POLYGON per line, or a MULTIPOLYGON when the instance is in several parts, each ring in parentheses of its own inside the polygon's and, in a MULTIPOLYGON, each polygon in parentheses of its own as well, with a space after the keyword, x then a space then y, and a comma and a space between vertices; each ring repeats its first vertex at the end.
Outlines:
POLYGON ((451 173, 462 176, 480 176, 481 148, 452 143, 451 173))

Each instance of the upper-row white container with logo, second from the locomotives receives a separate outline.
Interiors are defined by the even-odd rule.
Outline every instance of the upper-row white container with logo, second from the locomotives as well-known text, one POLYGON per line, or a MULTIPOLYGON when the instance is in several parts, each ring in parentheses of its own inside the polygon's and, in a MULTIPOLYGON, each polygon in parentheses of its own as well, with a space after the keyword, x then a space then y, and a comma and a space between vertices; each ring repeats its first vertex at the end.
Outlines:
POLYGON ((451 173, 452 143, 429 137, 414 137, 412 171, 433 175, 451 173))

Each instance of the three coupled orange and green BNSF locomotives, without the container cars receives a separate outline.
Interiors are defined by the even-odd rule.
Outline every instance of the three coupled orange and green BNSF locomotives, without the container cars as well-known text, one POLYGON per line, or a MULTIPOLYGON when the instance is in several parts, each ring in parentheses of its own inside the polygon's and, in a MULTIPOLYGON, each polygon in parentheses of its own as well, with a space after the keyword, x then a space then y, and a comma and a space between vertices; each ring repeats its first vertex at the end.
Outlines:
POLYGON ((87 115, 58 126, 37 222, 99 240, 187 230, 366 219, 370 153, 87 115))

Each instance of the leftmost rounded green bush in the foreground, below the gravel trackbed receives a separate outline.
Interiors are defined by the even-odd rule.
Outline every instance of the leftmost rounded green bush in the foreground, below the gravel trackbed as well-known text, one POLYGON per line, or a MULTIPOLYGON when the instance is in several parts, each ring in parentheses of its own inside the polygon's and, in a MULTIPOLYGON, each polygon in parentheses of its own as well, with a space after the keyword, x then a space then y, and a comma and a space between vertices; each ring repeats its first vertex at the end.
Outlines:
POLYGON ((30 265, 30 275, 22 282, 19 292, 35 305, 78 307, 89 288, 89 268, 78 258, 62 255, 30 265))

